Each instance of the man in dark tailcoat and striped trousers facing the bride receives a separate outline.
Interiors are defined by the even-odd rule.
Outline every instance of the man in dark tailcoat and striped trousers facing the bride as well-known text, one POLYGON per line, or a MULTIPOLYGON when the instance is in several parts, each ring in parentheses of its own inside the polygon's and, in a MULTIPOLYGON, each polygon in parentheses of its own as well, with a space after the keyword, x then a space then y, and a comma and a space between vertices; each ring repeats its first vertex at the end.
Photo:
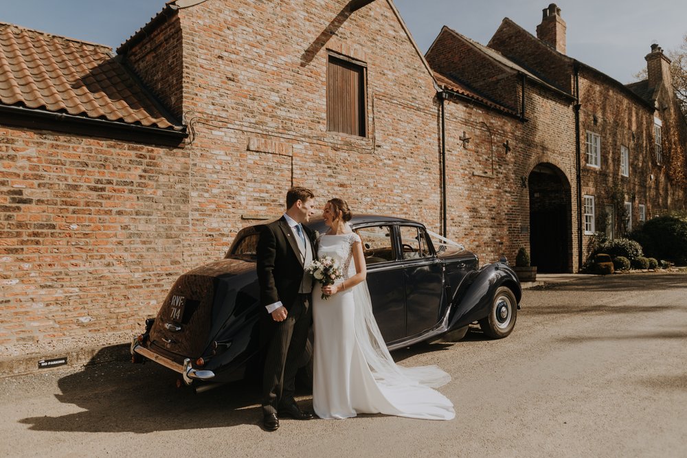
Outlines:
POLYGON ((279 417, 310 420, 293 399, 297 363, 306 347, 313 312, 313 277, 304 269, 315 257, 313 233, 302 223, 315 213, 315 194, 305 187, 286 193, 286 213, 264 226, 258 242, 261 338, 267 345, 262 378, 262 424, 279 428, 279 417))

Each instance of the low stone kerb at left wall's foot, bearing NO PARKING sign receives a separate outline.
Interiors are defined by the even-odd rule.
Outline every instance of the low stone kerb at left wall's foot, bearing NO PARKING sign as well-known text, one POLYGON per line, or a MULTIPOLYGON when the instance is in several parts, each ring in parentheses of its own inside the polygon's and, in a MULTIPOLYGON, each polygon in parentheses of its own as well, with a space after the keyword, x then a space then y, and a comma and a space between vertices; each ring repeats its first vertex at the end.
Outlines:
POLYGON ((115 360, 129 360, 131 343, 109 345, 106 347, 74 348, 44 354, 10 356, 0 359, 0 378, 38 374, 56 369, 82 368, 86 366, 111 363, 115 360), (67 364, 56 367, 38 367, 38 361, 67 357, 67 364))

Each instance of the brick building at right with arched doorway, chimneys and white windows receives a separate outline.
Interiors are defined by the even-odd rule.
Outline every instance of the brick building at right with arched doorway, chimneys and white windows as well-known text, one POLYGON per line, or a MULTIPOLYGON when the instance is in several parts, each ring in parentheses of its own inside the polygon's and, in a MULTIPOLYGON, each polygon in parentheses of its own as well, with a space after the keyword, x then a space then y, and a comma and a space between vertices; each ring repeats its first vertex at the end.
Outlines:
POLYGON ((648 80, 625 86, 566 56, 565 28, 552 4, 536 37, 508 18, 488 46, 444 27, 426 56, 449 93, 500 107, 450 104, 455 189, 469 206, 449 211, 453 227, 493 252, 527 247, 544 272, 577 271, 595 231, 622 236, 686 203, 687 132, 668 58, 653 46, 648 80))

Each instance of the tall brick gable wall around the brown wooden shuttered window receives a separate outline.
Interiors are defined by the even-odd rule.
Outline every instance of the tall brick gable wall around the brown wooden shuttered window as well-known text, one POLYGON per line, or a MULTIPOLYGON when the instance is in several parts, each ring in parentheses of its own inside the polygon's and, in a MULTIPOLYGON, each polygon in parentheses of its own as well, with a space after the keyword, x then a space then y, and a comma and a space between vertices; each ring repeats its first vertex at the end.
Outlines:
POLYGON ((292 183, 313 188, 319 205, 341 196, 354 211, 438 228, 438 108, 429 72, 389 3, 350 16, 346 3, 263 10, 251 1, 205 2, 179 12, 185 110, 195 133, 184 243, 194 259, 216 256, 251 223, 245 218, 280 214, 292 183), (367 65, 368 137, 326 130, 328 52, 367 65))

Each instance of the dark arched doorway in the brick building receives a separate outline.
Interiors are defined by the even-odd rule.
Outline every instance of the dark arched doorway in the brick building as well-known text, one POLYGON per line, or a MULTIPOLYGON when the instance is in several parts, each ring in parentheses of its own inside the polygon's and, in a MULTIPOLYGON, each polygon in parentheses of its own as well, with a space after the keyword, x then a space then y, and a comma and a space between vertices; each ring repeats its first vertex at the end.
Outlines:
POLYGON ((550 163, 540 163, 528 177, 530 190, 530 260, 537 272, 572 272, 570 181, 550 163))

